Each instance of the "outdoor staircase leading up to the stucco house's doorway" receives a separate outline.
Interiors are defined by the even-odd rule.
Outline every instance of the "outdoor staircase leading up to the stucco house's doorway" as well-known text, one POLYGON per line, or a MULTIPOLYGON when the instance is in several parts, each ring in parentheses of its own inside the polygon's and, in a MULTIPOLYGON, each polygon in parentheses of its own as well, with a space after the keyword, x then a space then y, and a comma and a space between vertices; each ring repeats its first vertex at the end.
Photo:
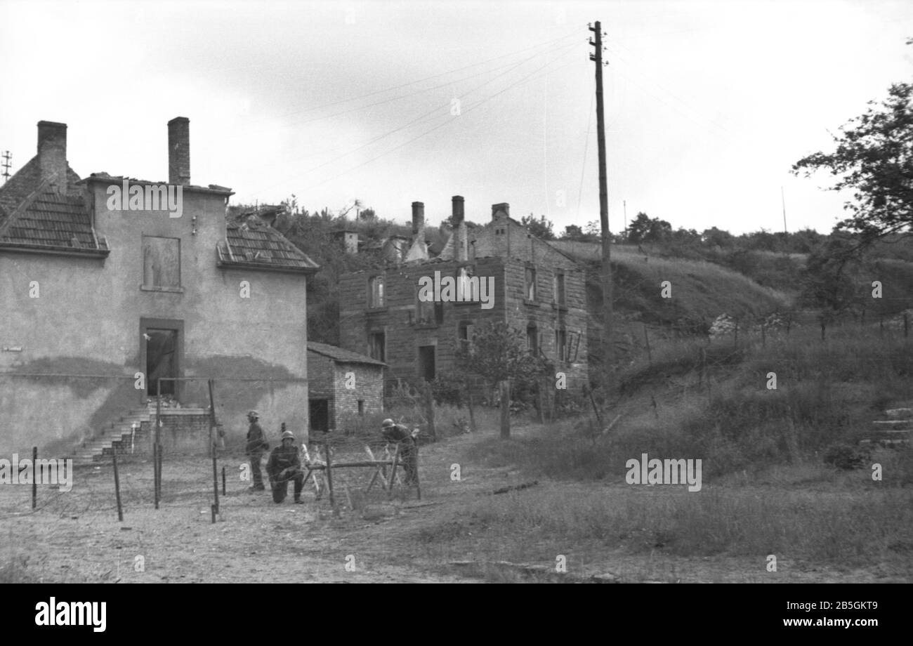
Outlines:
MULTIPOLYGON (((191 416, 208 416, 208 414, 209 410, 202 408, 167 407, 162 409, 163 418, 169 415, 179 415, 189 419, 191 416)), ((116 422, 111 422, 95 437, 83 442, 68 457, 73 458, 74 465, 99 464, 109 462, 111 455, 115 452, 118 455, 149 453, 155 419, 154 402, 142 408, 133 409, 116 422)))

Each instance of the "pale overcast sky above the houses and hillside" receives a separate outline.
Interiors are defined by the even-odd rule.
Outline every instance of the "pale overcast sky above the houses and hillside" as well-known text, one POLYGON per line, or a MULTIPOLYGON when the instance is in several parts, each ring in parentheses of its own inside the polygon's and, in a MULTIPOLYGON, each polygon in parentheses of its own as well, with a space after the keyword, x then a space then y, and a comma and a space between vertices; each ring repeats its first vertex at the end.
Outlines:
POLYGON ((38 120, 68 161, 165 181, 168 120, 190 119, 191 178, 233 203, 333 210, 358 198, 430 224, 466 198, 599 217, 593 63, 605 37, 609 219, 829 231, 843 199, 792 162, 913 80, 913 3, 11 2, 0 0, 0 151, 38 120))

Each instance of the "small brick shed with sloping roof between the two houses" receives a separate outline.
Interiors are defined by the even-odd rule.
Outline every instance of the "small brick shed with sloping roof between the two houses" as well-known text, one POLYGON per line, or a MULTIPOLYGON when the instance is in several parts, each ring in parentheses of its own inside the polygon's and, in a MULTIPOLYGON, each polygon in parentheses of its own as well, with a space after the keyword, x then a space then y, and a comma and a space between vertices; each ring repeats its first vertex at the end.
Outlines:
POLYGON ((308 342, 310 431, 345 431, 383 412, 383 361, 308 342))

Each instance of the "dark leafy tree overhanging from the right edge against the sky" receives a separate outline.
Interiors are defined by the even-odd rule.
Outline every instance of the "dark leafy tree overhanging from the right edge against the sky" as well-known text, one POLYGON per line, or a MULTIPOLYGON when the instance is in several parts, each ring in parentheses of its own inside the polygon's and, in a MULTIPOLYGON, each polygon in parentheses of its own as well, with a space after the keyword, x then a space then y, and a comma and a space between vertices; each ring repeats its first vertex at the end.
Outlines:
POLYGON ((828 190, 853 191, 853 200, 844 204, 852 217, 835 229, 861 234, 862 245, 913 228, 911 98, 913 84, 892 85, 879 107, 869 108, 845 124, 840 136, 834 135, 834 152, 815 152, 792 165, 793 174, 804 172, 806 177, 827 170, 837 178, 828 190))

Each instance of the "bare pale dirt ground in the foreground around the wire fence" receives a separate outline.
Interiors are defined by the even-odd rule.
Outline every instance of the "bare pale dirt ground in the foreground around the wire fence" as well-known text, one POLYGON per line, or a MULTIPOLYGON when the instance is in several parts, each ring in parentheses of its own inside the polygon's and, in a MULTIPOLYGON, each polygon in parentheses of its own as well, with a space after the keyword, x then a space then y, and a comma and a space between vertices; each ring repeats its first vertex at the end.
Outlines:
MULTIPOLYGON (((519 432, 522 432, 520 429, 519 432)), ((163 502, 152 500, 152 462, 121 464, 124 519, 118 521, 110 464, 78 469, 68 493, 53 485, 38 487, 38 508, 31 510, 31 487, 0 487, 0 518, 6 544, 0 559, 27 557, 24 580, 68 582, 480 582, 483 580, 567 580, 596 582, 876 582, 909 580, 879 568, 835 571, 813 564, 781 561, 777 573, 740 558, 630 556, 615 551, 591 555, 585 567, 557 576, 554 563, 498 565, 477 553, 471 539, 460 553, 435 557, 416 541, 423 528, 467 519, 467 505, 495 489, 521 484, 509 469, 486 469, 462 457, 476 435, 463 435, 422 447, 422 499, 415 490, 404 499, 375 487, 369 505, 353 511, 345 495, 366 484, 369 469, 334 472, 340 515, 327 496, 315 500, 308 484, 305 505, 272 502, 269 492, 250 493, 241 481, 243 457, 224 457, 226 495, 212 523, 212 463, 204 457, 167 460, 163 465, 163 502), (461 478, 451 479, 460 464, 461 478), (354 473, 359 472, 359 473, 354 473), (142 568, 140 568, 142 557, 142 568), (746 572, 756 572, 747 576, 746 572), (596 577, 595 579, 593 577, 596 577)), ((364 459, 364 456, 357 456, 364 459)), ((339 461, 341 456, 337 456, 339 461)), ((527 479, 528 480, 528 479, 527 479)), ((606 488, 624 484, 540 482, 540 487, 606 488)), ((511 495, 523 495, 522 492, 511 495)), ((356 502, 356 506, 359 506, 356 502)))

